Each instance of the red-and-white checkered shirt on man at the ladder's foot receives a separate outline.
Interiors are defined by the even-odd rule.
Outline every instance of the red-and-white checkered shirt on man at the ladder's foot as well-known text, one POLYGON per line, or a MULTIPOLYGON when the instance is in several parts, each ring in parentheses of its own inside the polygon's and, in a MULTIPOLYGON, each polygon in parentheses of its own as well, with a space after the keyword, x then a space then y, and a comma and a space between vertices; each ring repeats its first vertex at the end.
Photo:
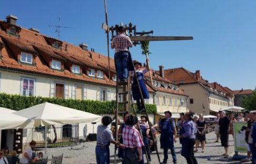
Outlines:
POLYGON ((125 126, 122 130, 122 138, 124 140, 125 147, 137 148, 144 146, 140 132, 135 127, 125 126))

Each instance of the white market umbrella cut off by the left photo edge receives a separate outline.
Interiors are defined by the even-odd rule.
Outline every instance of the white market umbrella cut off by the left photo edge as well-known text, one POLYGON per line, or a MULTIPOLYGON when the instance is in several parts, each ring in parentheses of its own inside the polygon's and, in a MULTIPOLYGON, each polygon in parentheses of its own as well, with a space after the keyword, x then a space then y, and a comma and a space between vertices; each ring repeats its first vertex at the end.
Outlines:
POLYGON ((8 110, 1 109, 0 112, 0 130, 14 128, 31 128, 34 126, 34 121, 29 118, 14 115, 8 110))

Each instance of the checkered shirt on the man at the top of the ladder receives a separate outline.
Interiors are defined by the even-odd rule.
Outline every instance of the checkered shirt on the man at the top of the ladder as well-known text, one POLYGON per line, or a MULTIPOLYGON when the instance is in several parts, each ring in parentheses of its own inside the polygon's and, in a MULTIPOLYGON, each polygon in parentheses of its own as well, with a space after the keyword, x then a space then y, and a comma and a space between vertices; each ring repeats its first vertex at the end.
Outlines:
POLYGON ((113 38, 111 45, 115 48, 115 53, 117 53, 120 51, 128 51, 128 47, 132 47, 132 42, 129 36, 120 34, 113 38))

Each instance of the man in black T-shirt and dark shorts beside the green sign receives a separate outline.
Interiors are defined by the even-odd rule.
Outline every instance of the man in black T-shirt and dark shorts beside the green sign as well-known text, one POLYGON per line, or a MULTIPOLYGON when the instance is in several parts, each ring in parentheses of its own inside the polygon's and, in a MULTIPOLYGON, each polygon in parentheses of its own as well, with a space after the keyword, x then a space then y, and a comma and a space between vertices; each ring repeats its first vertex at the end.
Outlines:
POLYGON ((230 119, 226 116, 225 111, 219 111, 219 134, 221 146, 224 147, 225 153, 222 155, 225 158, 228 158, 228 136, 229 136, 229 123, 230 119))

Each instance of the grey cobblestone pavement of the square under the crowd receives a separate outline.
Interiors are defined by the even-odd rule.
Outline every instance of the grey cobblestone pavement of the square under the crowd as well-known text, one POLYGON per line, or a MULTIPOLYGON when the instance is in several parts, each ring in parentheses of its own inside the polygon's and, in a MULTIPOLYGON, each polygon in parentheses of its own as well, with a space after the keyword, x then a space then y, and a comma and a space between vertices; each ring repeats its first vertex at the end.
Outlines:
MULTIPOLYGON (((220 146, 220 143, 214 143, 215 134, 214 132, 206 134, 206 147, 205 152, 201 153, 201 148, 199 148, 199 152, 195 153, 195 157, 198 160, 198 163, 240 163, 239 161, 233 161, 231 159, 225 159, 221 157, 221 154, 224 153, 224 148, 220 146)), ((233 137, 229 136, 229 153, 230 156, 234 154, 234 141, 233 137)), ((86 142, 85 147, 83 147, 83 143, 80 145, 72 147, 60 147, 60 148, 48 148, 47 154, 49 157, 51 155, 60 155, 63 153, 63 163, 72 163, 72 164, 80 164, 80 163, 96 163, 95 160, 95 145, 96 142, 86 142)), ((175 150, 177 153, 178 163, 186 163, 185 158, 180 155, 181 145, 180 143, 175 143, 175 150)), ((111 155, 114 155, 114 146, 110 147, 111 155)), ((160 158, 163 160, 163 150, 160 150, 160 158)), ((151 155, 152 162, 151 163, 159 163, 157 160, 157 156, 155 153, 151 155)), ((168 163, 172 163, 171 154, 169 153, 169 161, 168 163)))

